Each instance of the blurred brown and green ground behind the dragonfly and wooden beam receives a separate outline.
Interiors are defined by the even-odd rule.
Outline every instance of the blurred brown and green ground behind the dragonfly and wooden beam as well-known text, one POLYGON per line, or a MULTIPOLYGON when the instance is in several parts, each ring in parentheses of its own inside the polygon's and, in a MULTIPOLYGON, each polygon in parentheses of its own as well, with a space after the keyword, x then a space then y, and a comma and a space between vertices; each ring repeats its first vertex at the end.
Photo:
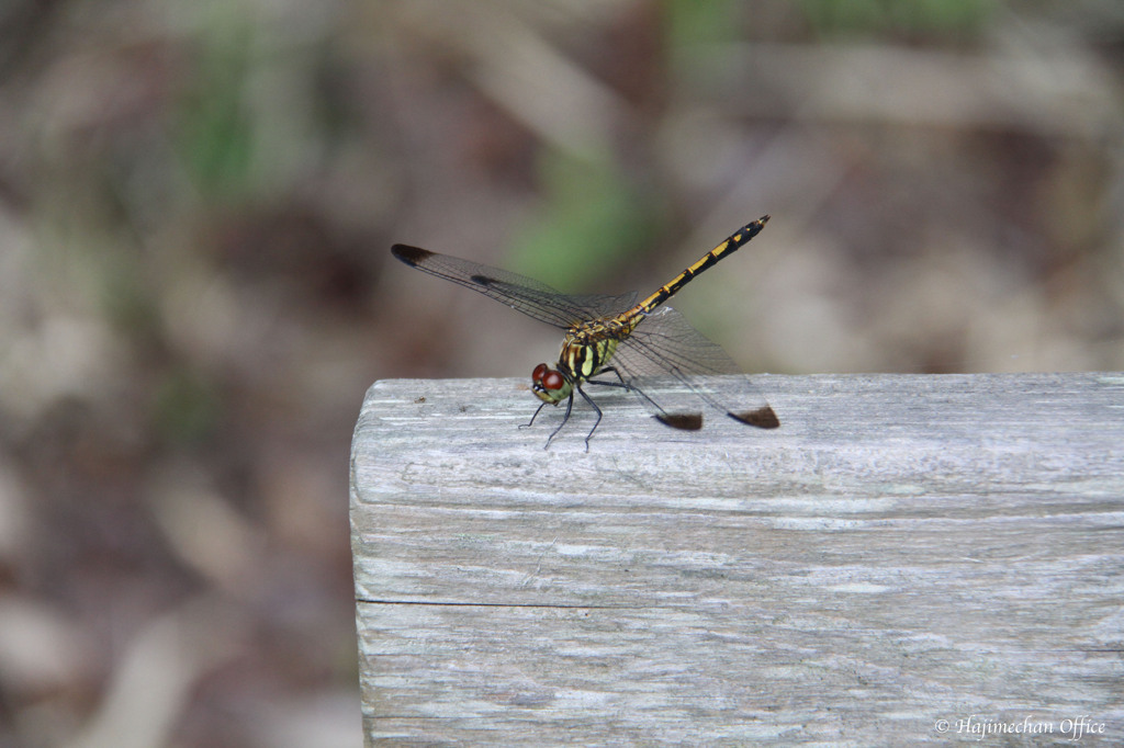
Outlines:
POLYGON ((361 745, 364 390, 560 343, 392 243, 768 212, 676 302, 747 372, 1124 368, 1122 85, 1117 0, 4 0, 0 745, 361 745))

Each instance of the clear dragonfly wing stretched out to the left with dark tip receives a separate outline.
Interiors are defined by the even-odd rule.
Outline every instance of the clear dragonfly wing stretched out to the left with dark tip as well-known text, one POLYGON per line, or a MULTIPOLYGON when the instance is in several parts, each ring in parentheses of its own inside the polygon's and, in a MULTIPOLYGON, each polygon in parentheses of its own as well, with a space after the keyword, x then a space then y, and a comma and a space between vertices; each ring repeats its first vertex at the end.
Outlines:
POLYGON ((411 267, 472 289, 541 322, 566 329, 578 322, 619 313, 636 294, 568 295, 533 277, 428 249, 396 244, 391 254, 411 267))

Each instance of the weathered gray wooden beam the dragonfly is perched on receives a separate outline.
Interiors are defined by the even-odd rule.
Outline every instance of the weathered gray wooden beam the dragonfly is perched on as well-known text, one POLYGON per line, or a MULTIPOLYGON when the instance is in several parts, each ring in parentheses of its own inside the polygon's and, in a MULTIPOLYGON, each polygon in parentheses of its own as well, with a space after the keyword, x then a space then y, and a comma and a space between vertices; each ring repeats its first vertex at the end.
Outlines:
POLYGON ((758 382, 778 430, 598 391, 588 454, 522 381, 372 386, 368 744, 1124 741, 1124 374, 758 382))

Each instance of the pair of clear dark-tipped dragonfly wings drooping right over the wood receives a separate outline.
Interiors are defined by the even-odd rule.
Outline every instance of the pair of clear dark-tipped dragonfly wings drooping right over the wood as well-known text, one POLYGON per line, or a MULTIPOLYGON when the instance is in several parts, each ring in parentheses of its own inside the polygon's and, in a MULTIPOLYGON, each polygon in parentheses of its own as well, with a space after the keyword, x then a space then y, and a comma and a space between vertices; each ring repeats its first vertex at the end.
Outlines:
POLYGON ((641 396, 656 409, 656 418, 676 428, 697 429, 703 425, 699 401, 742 423, 777 428, 780 421, 753 382, 741 372, 726 352, 709 340, 671 307, 649 314, 624 339, 610 361, 625 381, 644 391, 669 377, 679 383, 660 402, 647 392, 641 396), (720 383, 709 377, 727 375, 720 383))

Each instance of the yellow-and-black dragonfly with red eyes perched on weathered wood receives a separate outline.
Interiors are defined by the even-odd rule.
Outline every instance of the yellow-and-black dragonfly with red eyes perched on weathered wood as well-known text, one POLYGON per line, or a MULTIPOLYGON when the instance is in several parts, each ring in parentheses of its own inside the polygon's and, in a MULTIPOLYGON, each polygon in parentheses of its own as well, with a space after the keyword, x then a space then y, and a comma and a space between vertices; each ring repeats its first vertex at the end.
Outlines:
POLYGON ((641 301, 637 301, 636 292, 619 295, 564 294, 534 279, 405 244, 393 245, 390 252, 411 267, 472 289, 564 330, 558 364, 553 367, 538 364, 532 372, 531 390, 542 403, 525 426, 534 425, 546 405, 559 405, 564 400, 565 414, 546 439, 544 448, 549 448, 570 420, 577 393, 597 413, 593 427, 586 435, 588 451, 589 439, 600 425, 602 413, 583 389, 587 384, 635 393, 653 411, 656 420, 674 429, 695 431, 703 428, 699 402, 740 423, 761 429, 780 426, 773 409, 734 361, 717 344, 691 327, 682 314, 664 305, 692 279, 760 234, 768 220, 769 216, 762 216, 743 226, 641 301), (709 377, 720 374, 737 376, 720 390, 715 390, 709 377), (681 385, 679 392, 668 394, 663 387, 658 401, 651 385, 669 378, 681 385))

